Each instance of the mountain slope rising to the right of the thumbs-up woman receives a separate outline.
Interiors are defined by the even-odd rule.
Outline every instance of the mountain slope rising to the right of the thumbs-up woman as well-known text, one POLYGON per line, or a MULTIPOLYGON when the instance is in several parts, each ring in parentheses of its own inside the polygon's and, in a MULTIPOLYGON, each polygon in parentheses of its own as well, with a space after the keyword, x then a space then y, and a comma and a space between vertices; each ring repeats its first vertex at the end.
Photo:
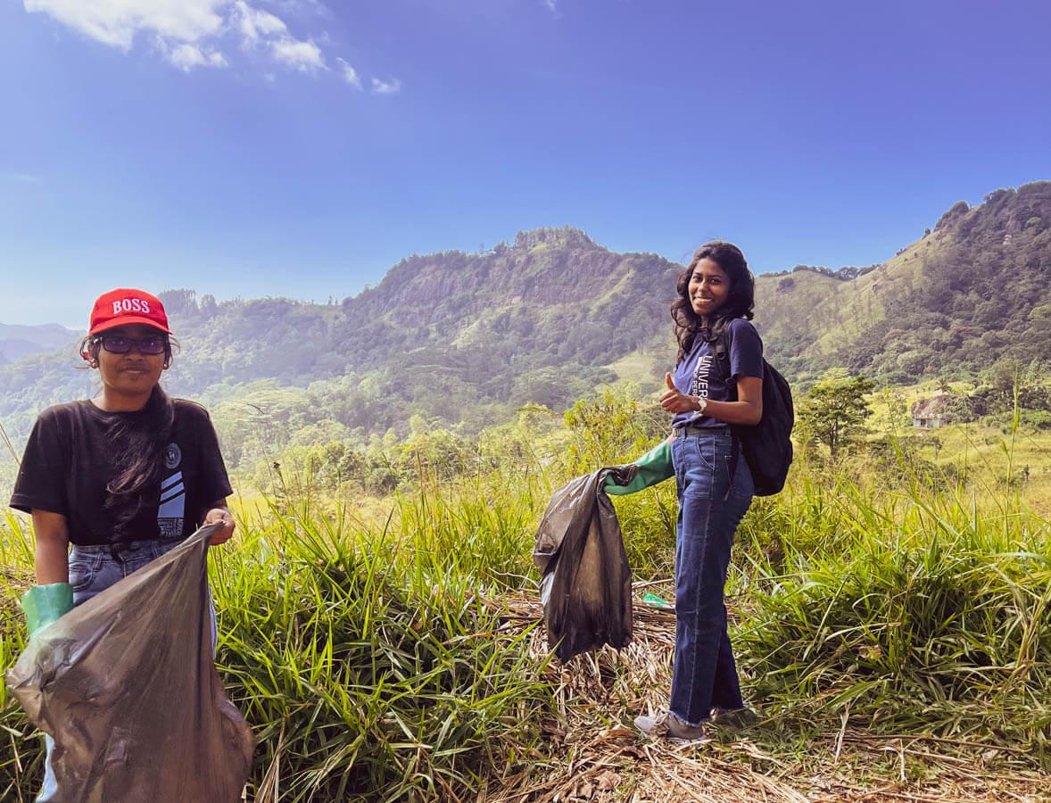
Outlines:
POLYGON ((805 378, 846 366, 889 383, 1051 354, 1051 182, 960 202, 887 263, 765 274, 757 324, 771 362, 805 378))

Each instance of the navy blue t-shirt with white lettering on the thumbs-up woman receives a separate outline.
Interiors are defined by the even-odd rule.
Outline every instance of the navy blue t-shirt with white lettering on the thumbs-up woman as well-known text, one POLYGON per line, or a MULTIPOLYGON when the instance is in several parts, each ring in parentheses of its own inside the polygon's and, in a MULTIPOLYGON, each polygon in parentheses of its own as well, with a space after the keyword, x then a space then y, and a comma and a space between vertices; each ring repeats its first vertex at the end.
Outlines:
MULTIPOLYGON (((763 342, 756 327, 743 317, 736 317, 729 322, 726 334, 730 377, 735 380, 741 376, 763 378, 763 342)), ((723 382, 722 371, 716 365, 716 345, 698 337, 691 352, 675 367, 675 373, 672 374, 675 387, 687 396, 700 396, 713 401, 736 401, 737 392, 731 391, 723 382)), ((676 413, 672 426, 716 429, 727 425, 689 410, 676 413)))

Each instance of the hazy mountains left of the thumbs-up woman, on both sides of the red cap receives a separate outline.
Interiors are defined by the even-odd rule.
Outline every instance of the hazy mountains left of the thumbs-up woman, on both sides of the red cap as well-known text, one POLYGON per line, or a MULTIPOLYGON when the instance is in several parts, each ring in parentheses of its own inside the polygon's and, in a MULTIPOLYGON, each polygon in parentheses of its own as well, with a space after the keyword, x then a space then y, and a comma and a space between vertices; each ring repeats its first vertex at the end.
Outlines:
MULTIPOLYGON (((536 401, 558 408, 617 378, 610 364, 667 330, 681 266, 619 254, 572 229, 518 234, 486 253, 413 255, 342 304, 217 304, 161 293, 181 343, 173 392, 222 400, 309 386, 313 412, 364 432, 413 412, 480 427, 536 401)), ((665 338, 666 341, 666 338, 665 338)), ((674 356, 665 342, 666 356, 674 356)), ((24 432, 46 404, 89 393, 73 349, 0 367, 0 415, 24 432)), ((640 377, 645 378, 645 377, 640 377)), ((271 399, 272 400, 272 399, 271 399)))

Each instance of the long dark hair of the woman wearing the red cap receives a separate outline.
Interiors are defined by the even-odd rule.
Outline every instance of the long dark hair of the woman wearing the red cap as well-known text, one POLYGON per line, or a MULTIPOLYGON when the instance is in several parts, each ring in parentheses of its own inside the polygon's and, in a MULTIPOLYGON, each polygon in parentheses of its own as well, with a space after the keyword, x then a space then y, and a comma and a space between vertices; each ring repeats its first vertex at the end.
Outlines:
MULTIPOLYGON (((164 367, 171 365, 171 339, 164 339, 164 367)), ((98 365, 100 343, 85 337, 81 353, 98 365)), ((164 452, 171 441, 176 407, 161 386, 154 385, 146 406, 131 415, 110 418, 106 437, 117 447, 114 477, 106 483, 103 510, 114 517, 115 528, 122 535, 131 520, 146 505, 160 498, 164 452)))

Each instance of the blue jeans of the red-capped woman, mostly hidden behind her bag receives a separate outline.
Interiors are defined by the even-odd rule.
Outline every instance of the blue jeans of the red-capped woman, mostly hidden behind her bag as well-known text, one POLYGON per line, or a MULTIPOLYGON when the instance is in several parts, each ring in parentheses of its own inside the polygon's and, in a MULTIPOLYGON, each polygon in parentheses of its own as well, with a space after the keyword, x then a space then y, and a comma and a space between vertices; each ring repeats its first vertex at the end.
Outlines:
MULTIPOLYGON (((78 547, 69 552, 69 584, 73 585, 73 603, 79 605, 98 596, 110 585, 137 572, 147 563, 171 552, 182 543, 174 541, 129 541, 120 547, 78 547)), ((211 648, 214 652, 219 633, 215 629, 215 609, 208 600, 211 612, 211 648)), ((37 803, 49 803, 55 799, 58 784, 51 769, 51 753, 55 740, 44 735, 44 782, 37 803)))

